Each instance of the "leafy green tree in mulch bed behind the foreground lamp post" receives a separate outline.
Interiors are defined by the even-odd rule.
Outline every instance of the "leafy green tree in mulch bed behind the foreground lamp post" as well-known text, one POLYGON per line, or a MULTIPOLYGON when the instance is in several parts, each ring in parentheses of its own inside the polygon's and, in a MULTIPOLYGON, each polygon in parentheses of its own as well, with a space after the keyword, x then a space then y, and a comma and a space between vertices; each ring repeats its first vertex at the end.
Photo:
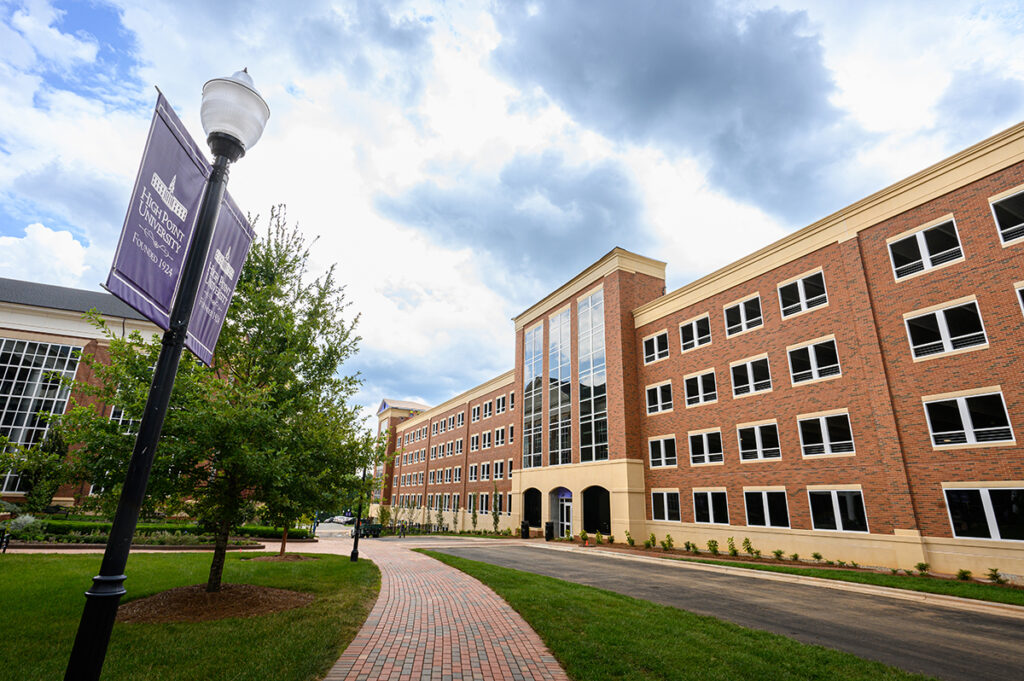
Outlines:
MULTIPOLYGON (((257 504, 287 528, 351 486, 374 456, 348 403, 358 380, 341 374, 356 350, 357 318, 344 318, 333 269, 309 275, 309 249, 284 209, 271 210, 240 273, 213 367, 182 357, 175 380, 146 503, 187 502, 214 534, 207 591, 219 591, 230 530, 257 504)), ((110 337, 110 364, 87 360, 101 383, 95 396, 137 418, 159 340, 110 337)), ((72 414, 69 440, 83 443, 92 479, 116 500, 134 438, 89 407, 72 414)))

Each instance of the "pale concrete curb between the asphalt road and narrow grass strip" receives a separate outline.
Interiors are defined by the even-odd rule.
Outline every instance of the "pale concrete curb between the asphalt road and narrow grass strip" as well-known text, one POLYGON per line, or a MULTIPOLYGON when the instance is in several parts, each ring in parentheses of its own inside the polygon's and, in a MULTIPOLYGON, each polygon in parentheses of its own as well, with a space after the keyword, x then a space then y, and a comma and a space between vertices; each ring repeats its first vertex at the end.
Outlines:
POLYGON ((707 572, 720 572, 725 574, 735 574, 748 577, 756 580, 768 580, 770 582, 788 582, 791 584, 803 584, 822 589, 834 589, 836 591, 850 591, 853 593, 867 594, 870 596, 881 596, 895 600, 914 601, 928 605, 939 605, 955 610, 967 610, 981 614, 994 614, 997 616, 1024 620, 1024 606, 1011 605, 1009 603, 995 603, 992 601, 977 600, 974 598, 961 598, 959 596, 947 596, 945 594, 931 594, 925 591, 910 591, 907 589, 895 589, 892 587, 880 587, 871 584, 858 584, 856 582, 843 582, 840 580, 826 580, 819 577, 807 577, 806 574, 787 574, 785 572, 771 572, 768 570, 750 569, 746 567, 732 567, 731 565, 711 565, 709 563, 690 562, 687 560, 673 560, 670 558, 654 558, 650 556, 631 556, 617 551, 593 551, 586 547, 578 546, 551 546, 538 545, 549 551, 585 552, 589 555, 603 555, 620 560, 633 560, 657 565, 669 565, 683 569, 696 569, 707 572))

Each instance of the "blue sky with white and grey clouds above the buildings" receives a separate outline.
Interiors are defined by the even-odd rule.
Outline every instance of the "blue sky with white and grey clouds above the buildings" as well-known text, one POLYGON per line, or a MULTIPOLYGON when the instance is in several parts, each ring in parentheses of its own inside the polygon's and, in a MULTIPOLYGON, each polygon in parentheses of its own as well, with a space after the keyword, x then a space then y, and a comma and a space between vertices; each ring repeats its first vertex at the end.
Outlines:
POLYGON ((159 86, 248 67, 231 194, 318 237, 358 397, 513 366, 614 246, 669 289, 1024 119, 1019 2, 0 0, 0 276, 98 289, 159 86))

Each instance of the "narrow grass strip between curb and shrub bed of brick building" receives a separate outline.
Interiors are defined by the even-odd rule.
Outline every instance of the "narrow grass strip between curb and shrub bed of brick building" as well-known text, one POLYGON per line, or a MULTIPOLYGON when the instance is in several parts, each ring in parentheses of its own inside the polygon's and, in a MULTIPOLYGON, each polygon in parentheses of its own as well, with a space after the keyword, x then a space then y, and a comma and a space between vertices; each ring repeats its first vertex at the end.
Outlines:
POLYGON ((871 584, 879 587, 906 589, 908 591, 926 591, 931 594, 974 598, 995 603, 1024 605, 1024 590, 1013 587, 1002 587, 996 584, 980 584, 978 582, 959 582, 940 580, 930 577, 914 577, 912 574, 885 574, 883 572, 863 572, 852 569, 828 569, 823 567, 797 567, 795 565, 772 565, 764 563, 749 563, 741 560, 707 560, 701 558, 680 558, 671 556, 672 560, 687 560, 709 565, 730 565, 745 569, 760 569, 768 572, 786 572, 788 574, 805 574, 824 580, 841 582, 856 582, 871 584))

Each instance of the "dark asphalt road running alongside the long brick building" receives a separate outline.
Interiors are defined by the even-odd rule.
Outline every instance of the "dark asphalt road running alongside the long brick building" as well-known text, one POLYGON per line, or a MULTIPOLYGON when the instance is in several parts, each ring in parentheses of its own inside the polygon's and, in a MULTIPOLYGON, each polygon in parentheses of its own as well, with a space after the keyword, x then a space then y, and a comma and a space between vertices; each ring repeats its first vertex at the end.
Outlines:
POLYGON ((453 541, 434 550, 709 614, 940 679, 1024 680, 1024 622, 1012 618, 529 546, 453 541))

